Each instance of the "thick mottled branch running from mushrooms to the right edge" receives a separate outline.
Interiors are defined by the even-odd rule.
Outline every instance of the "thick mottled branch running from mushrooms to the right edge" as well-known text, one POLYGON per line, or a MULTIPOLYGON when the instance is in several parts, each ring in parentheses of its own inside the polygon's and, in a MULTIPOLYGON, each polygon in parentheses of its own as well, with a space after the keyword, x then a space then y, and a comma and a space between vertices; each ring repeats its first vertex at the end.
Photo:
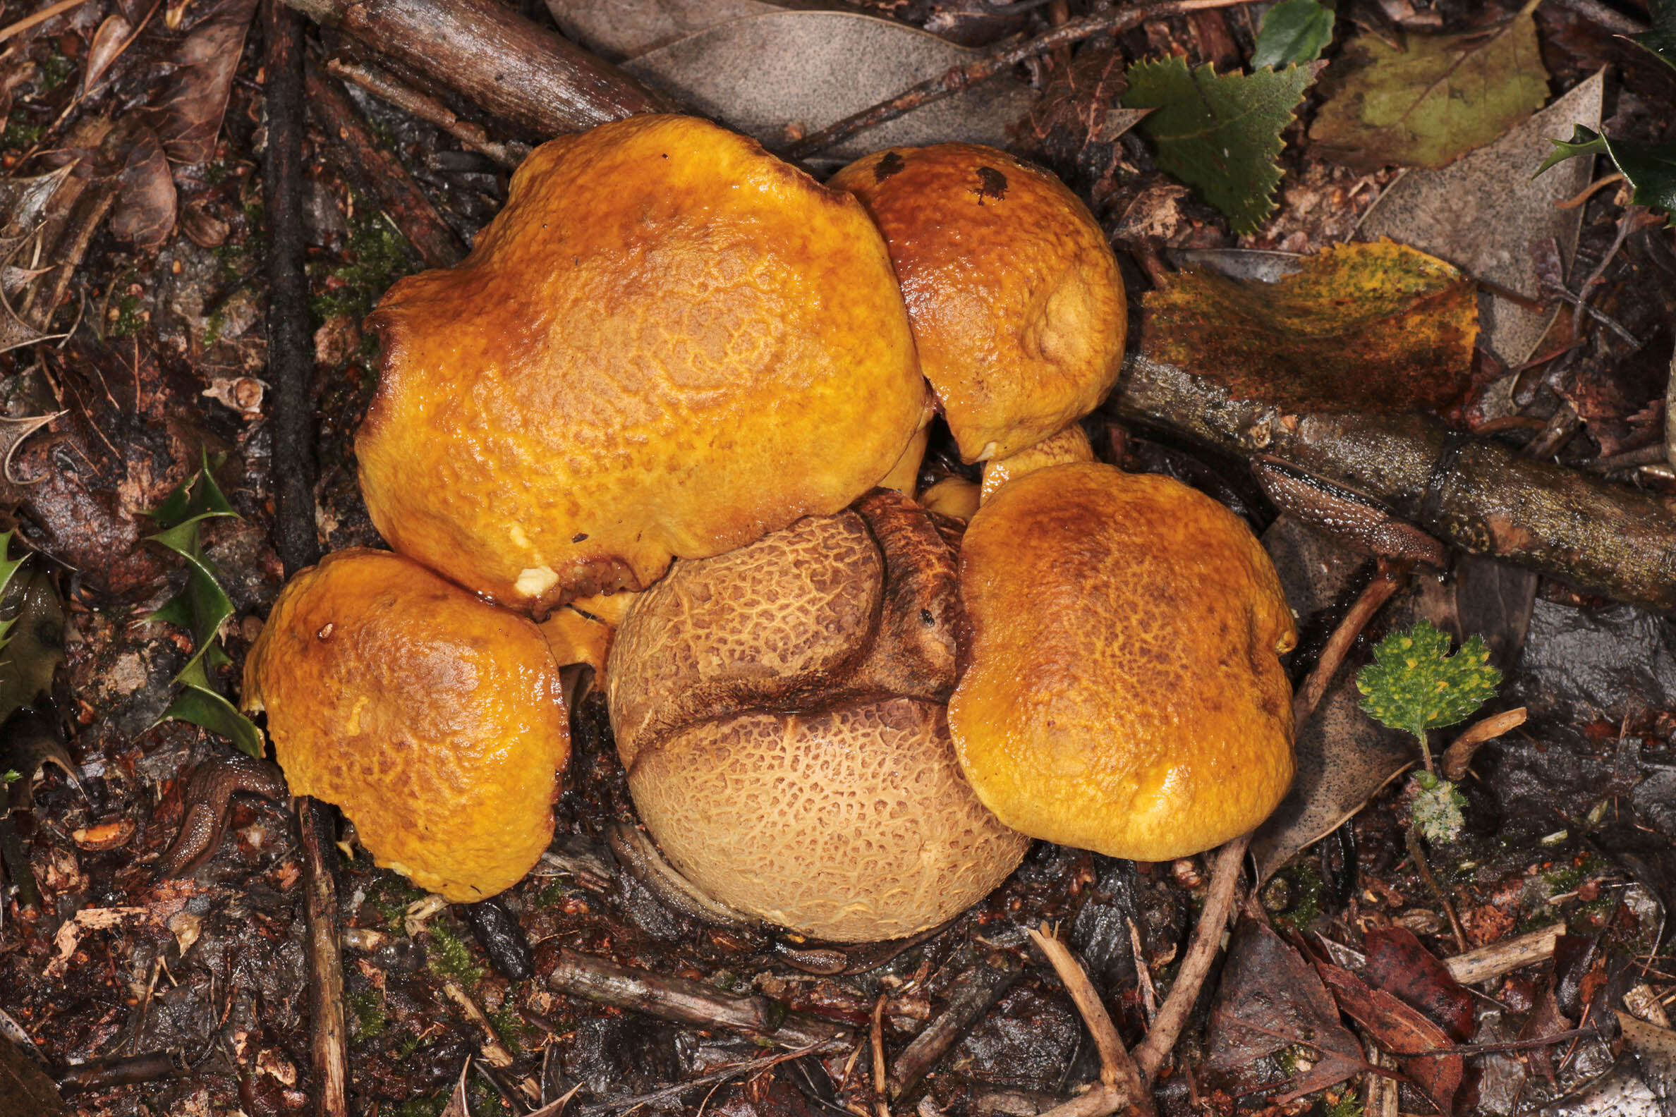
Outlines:
POLYGON ((1108 407, 1218 449, 1269 454, 1384 501, 1473 554, 1676 613, 1676 514, 1649 492, 1520 457, 1428 415, 1289 415, 1131 357, 1108 407))

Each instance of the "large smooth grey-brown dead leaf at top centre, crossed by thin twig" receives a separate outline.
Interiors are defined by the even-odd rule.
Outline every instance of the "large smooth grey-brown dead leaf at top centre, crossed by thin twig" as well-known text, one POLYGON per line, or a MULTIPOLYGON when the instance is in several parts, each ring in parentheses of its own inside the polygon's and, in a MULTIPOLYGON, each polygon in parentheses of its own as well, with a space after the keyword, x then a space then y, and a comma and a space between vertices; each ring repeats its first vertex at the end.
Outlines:
MULTIPOLYGON (((979 50, 873 15, 766 12, 687 35, 623 69, 774 147, 979 57, 979 50)), ((1007 129, 1034 97, 1009 79, 982 82, 825 154, 848 161, 880 147, 940 141, 1006 147, 1007 129)))

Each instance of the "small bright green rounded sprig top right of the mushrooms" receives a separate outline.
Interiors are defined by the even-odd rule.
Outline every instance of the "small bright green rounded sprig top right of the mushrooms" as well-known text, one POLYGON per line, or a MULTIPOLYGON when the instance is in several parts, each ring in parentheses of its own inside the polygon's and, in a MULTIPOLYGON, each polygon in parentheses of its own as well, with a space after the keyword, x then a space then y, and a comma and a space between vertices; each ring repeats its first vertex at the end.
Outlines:
POLYGON ((1428 728, 1465 720, 1495 695, 1502 672, 1478 636, 1450 655, 1448 633, 1431 621, 1391 633, 1373 650, 1373 663, 1356 677, 1363 710, 1391 728, 1421 740, 1428 728))

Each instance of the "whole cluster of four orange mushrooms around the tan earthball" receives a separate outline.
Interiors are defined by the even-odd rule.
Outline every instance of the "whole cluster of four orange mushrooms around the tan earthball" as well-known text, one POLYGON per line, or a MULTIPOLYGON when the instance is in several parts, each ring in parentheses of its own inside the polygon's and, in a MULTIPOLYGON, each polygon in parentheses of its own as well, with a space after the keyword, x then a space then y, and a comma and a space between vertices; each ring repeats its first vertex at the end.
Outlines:
POLYGON ((1032 837, 1177 857, 1285 792, 1291 611, 1227 509, 1093 461, 1123 283, 1053 176, 944 144, 821 186, 634 117, 536 149, 372 325, 394 553, 292 579, 245 700, 416 884, 533 867, 572 663, 669 862, 835 941, 952 918, 1032 837), (915 492, 937 414, 982 486, 915 492))

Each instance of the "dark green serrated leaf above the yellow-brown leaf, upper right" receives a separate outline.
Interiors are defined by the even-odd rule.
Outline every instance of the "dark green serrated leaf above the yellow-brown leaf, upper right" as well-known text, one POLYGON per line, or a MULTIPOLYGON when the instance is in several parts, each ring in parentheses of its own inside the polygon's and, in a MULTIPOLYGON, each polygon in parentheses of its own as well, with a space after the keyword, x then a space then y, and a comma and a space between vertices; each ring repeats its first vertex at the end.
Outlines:
POLYGON ((1126 109, 1153 109, 1141 131, 1158 149, 1158 166, 1197 186, 1235 233, 1255 233, 1274 211, 1280 183, 1275 156, 1314 69, 1289 65, 1255 74, 1217 74, 1210 64, 1188 72, 1182 59, 1141 62, 1128 70, 1126 109))

